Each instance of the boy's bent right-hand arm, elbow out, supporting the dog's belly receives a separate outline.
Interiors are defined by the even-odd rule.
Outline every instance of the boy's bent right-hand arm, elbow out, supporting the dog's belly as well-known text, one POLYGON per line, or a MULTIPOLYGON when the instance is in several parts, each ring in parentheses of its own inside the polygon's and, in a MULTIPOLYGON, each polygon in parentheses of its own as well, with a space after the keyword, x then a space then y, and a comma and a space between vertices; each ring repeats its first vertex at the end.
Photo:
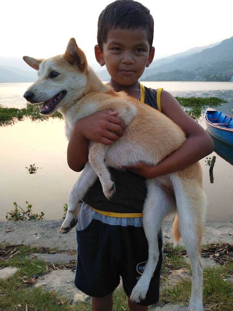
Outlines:
POLYGON ((140 163, 130 171, 146 178, 156 178, 184 169, 214 151, 210 135, 181 108, 178 101, 167 91, 161 93, 162 113, 182 128, 187 137, 180 148, 173 151, 155 166, 140 163))

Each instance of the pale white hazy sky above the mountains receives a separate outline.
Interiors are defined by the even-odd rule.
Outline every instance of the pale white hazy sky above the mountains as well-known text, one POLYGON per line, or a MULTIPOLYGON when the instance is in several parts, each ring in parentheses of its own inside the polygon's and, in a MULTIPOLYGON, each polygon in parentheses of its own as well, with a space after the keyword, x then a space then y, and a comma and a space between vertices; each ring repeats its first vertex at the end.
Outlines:
MULTIPOLYGON (((64 53, 71 37, 96 62, 99 13, 112 1, 3 0, 0 56, 48 58, 64 53)), ((232 0, 139 0, 155 21, 155 58, 233 36, 232 0)))

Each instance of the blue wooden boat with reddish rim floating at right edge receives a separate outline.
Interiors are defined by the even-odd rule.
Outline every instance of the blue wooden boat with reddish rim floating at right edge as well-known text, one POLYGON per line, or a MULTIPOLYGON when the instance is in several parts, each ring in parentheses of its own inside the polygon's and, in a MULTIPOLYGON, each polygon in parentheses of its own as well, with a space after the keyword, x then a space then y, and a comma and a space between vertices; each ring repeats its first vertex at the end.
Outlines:
POLYGON ((205 112, 207 131, 217 139, 233 145, 233 118, 212 108, 205 112))

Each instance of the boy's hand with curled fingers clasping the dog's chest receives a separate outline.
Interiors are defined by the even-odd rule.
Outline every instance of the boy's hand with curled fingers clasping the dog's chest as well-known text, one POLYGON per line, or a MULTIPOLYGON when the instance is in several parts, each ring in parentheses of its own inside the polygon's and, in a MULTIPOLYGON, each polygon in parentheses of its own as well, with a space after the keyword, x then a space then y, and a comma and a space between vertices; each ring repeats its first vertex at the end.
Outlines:
POLYGON ((85 138, 104 145, 111 145, 122 136, 125 124, 117 118, 117 111, 104 110, 95 112, 78 121, 85 138))

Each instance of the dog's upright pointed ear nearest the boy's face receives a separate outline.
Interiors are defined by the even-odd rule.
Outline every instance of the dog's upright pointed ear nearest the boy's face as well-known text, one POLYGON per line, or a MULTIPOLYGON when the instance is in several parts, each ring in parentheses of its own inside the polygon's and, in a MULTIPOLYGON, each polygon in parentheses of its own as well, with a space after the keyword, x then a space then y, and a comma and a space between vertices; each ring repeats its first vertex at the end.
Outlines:
POLYGON ((87 59, 85 53, 77 46, 74 38, 71 38, 66 52, 63 54, 66 62, 71 65, 78 66, 79 69, 84 72, 87 67, 87 59))

